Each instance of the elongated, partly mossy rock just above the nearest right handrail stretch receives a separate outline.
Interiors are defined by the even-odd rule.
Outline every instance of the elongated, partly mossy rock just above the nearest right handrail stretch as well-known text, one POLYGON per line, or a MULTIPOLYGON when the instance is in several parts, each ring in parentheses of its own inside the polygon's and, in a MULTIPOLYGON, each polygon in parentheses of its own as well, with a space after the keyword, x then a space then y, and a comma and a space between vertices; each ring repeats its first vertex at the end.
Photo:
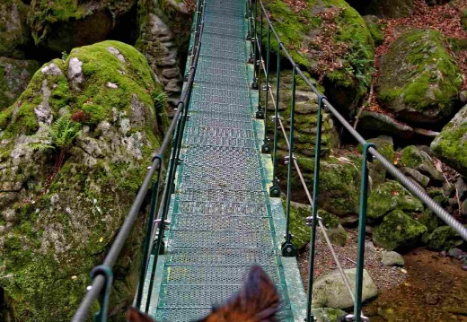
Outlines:
POLYGON ((443 174, 436 170, 433 161, 431 161, 427 153, 421 151, 415 145, 410 145, 402 150, 401 163, 408 168, 426 174, 429 178, 437 182, 443 181, 443 174))

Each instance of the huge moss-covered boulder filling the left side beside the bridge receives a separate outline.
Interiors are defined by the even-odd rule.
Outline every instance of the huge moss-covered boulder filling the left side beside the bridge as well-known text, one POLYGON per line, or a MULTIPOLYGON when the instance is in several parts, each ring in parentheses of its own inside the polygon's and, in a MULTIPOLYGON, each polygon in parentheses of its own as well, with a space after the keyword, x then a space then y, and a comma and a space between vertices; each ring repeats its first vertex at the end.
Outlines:
MULTIPOLYGON (((0 112, 0 288, 11 320, 71 319, 161 142, 159 92, 143 55, 105 41, 44 65, 0 112)), ((132 301, 144 217, 113 269, 115 312, 132 301)))

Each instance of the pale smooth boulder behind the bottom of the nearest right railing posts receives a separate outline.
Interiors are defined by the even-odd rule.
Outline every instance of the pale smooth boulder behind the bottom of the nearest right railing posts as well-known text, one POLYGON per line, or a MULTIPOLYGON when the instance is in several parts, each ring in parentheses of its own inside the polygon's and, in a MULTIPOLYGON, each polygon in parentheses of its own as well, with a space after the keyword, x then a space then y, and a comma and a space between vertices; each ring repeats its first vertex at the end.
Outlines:
MULTIPOLYGON (((348 277, 348 283, 355 285, 357 270, 355 268, 346 269, 344 273, 348 277)), ((376 295, 378 295, 378 289, 370 274, 364 270, 362 300, 373 299, 376 295)), ((313 308, 333 309, 349 309, 354 305, 338 270, 318 277, 313 283, 312 303, 313 308)))

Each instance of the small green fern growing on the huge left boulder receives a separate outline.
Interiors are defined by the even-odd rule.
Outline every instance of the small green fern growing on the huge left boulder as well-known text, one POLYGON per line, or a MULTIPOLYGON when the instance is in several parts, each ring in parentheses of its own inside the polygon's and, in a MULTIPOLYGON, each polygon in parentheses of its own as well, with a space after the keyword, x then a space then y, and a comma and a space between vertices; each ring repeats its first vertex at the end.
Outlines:
POLYGON ((71 119, 69 114, 59 117, 57 121, 50 126, 48 130, 52 139, 52 144, 62 150, 67 150, 75 140, 76 136, 81 134, 81 124, 71 119))

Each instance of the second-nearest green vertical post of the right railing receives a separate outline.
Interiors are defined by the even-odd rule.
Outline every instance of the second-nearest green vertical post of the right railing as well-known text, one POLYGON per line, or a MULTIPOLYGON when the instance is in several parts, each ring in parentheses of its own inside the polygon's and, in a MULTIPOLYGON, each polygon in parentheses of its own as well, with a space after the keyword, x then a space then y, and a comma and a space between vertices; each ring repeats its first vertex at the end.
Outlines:
POLYGON ((313 298, 313 275, 314 275, 314 252, 316 242, 316 227, 318 226, 318 189, 320 182, 320 159, 322 140, 322 105, 324 96, 318 96, 318 116, 316 122, 316 142, 314 144, 314 173, 313 173, 313 224, 310 236, 310 259, 308 266, 308 292, 306 296, 306 322, 313 322, 312 298, 313 298))

